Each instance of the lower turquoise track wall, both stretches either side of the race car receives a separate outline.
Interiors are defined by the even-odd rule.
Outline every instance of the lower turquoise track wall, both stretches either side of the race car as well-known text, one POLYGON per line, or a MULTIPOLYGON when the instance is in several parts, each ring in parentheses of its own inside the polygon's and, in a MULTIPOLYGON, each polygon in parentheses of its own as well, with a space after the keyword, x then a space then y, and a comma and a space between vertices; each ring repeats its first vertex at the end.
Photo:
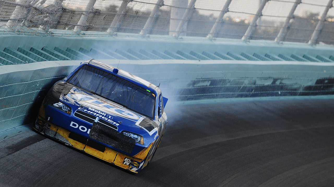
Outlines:
MULTIPOLYGON (((100 60, 159 85, 170 101, 334 94, 334 63, 100 60)), ((81 61, 0 66, 0 132, 32 122, 48 89, 81 61)))

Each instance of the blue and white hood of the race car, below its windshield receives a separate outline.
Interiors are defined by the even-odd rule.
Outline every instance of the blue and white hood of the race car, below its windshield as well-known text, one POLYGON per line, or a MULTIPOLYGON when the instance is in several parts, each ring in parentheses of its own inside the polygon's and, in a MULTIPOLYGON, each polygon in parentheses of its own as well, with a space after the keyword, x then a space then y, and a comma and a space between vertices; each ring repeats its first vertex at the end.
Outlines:
MULTIPOLYGON (((159 125, 152 119, 141 115, 135 111, 127 109, 126 107, 112 102, 104 97, 96 94, 91 94, 85 90, 77 88, 66 82, 56 83, 49 91, 46 100, 52 100, 50 97, 57 97, 69 105, 72 111, 81 110, 115 122, 115 125, 125 125, 133 128, 140 128, 152 135, 158 131, 159 125), (49 96, 48 96, 49 95, 49 96)), ((46 101, 49 102, 50 101, 46 101)))

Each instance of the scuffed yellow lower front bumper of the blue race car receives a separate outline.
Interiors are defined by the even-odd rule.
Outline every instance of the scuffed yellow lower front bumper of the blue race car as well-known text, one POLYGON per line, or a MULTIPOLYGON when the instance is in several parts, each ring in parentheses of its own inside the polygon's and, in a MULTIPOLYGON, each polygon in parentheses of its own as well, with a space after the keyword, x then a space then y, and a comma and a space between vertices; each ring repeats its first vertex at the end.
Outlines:
POLYGON ((147 165, 148 160, 146 157, 153 145, 152 143, 150 146, 135 156, 129 156, 111 148, 105 147, 102 144, 87 139, 83 136, 74 134, 49 121, 45 121, 45 119, 43 119, 41 116, 38 116, 33 128, 42 134, 65 143, 66 145, 77 148, 90 155, 135 173, 138 173, 147 165))

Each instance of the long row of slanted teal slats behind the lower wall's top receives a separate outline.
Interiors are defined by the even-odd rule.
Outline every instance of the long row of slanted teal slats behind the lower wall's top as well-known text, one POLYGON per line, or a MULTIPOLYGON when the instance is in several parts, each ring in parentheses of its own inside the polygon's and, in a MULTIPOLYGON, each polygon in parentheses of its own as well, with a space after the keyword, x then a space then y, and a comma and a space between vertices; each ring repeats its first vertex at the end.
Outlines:
POLYGON ((6 47, 0 52, 0 65, 27 64, 43 61, 58 60, 89 60, 89 59, 118 59, 118 60, 238 60, 238 61, 301 61, 301 62, 334 62, 334 56, 323 56, 320 54, 273 54, 273 53, 236 53, 221 51, 181 51, 175 50, 133 50, 133 49, 85 49, 59 48, 45 46, 41 49, 31 47, 30 49, 19 47, 12 49, 6 47))

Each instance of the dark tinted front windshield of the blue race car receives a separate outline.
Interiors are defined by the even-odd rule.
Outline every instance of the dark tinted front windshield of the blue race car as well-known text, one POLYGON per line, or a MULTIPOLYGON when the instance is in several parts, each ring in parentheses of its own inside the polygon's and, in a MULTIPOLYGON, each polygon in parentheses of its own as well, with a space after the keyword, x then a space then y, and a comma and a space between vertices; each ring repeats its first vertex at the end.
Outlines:
POLYGON ((148 117, 154 116, 154 94, 101 69, 84 65, 67 82, 148 117))

